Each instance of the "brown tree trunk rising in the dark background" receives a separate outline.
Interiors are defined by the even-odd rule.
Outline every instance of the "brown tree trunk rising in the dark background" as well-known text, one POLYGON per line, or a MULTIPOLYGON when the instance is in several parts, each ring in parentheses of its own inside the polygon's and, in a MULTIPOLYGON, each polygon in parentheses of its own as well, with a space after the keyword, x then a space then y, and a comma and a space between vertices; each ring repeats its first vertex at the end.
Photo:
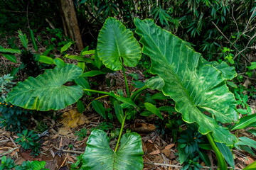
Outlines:
POLYGON ((60 0, 60 13, 63 19, 63 28, 68 36, 75 41, 77 50, 82 51, 82 38, 78 27, 78 20, 75 15, 73 0, 60 0))

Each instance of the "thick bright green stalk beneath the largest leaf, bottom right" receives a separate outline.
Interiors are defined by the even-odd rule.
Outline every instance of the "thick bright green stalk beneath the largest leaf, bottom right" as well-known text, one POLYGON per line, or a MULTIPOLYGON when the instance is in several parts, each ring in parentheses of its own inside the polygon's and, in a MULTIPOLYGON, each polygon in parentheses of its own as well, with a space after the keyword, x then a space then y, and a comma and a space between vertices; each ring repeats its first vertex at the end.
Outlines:
POLYGON ((208 138, 208 141, 210 142, 211 147, 213 147, 213 151, 215 152, 215 155, 217 157, 218 166, 220 167, 220 170, 227 170, 228 166, 225 162, 223 154, 221 154, 220 150, 215 145, 215 142, 213 141, 213 138, 210 136, 210 133, 206 134, 206 137, 208 138))

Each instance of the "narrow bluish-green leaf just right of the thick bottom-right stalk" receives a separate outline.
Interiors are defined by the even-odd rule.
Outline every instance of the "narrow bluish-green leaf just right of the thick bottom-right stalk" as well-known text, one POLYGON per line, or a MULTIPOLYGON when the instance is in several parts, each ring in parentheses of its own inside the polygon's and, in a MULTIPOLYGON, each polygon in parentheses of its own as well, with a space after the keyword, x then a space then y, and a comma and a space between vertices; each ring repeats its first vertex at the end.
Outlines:
POLYGON ((221 154, 223 154, 223 157, 226 160, 226 162, 228 162, 228 164, 231 167, 233 167, 233 169, 235 169, 235 162, 233 159, 233 154, 230 151, 230 148, 223 143, 215 142, 215 144, 217 145, 218 149, 220 149, 220 152, 221 154))

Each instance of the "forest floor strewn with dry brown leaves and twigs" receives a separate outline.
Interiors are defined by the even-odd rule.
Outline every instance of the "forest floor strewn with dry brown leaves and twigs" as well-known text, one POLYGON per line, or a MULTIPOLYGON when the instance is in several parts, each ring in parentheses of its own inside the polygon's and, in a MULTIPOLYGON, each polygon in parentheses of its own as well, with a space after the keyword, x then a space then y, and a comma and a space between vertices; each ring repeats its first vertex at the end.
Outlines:
MULTIPOLYGON (((0 41, 0 44, 4 47, 8 47, 4 42, 6 42, 6 40, 0 41)), ((41 47, 39 52, 43 52, 45 50, 45 47, 41 47)), ((58 55, 56 57, 58 57, 58 55)), ((6 70, 10 70, 11 67, 15 67, 16 64, 9 62, 4 57, 0 56, 0 58, 0 64, 1 66, 5 66, 6 70)), ((139 75, 140 81, 144 81, 146 79, 142 74, 144 71, 143 69, 126 69, 127 74, 136 72, 139 75)), ((96 90, 115 91, 116 89, 125 89, 123 79, 124 77, 122 72, 116 72, 114 74, 107 74, 104 81, 102 81, 102 79, 94 79, 93 81, 97 81, 97 86, 95 86, 97 87, 96 90), (109 79, 110 82, 115 81, 114 86, 107 86, 105 82, 106 79, 109 79)), ((132 79, 129 78, 128 83, 131 84, 131 82, 132 79)), ((92 87, 92 89, 93 88, 94 87, 92 87)), ((148 92, 151 94, 155 93, 155 91, 151 90, 148 92)), ((105 103, 105 108, 110 107, 108 99, 109 98, 102 99, 105 103)), ((84 99, 84 103, 88 101, 88 98, 84 99)), ((161 105, 160 102, 159 105, 161 105)), ((85 103, 85 106, 87 106, 87 103, 85 103)), ((43 113, 38 114, 40 115, 40 122, 43 122, 48 127, 48 130, 46 130, 43 137, 41 137, 41 154, 38 157, 31 156, 31 152, 29 150, 22 149, 20 145, 17 145, 16 142, 14 142, 16 138, 18 138, 16 133, 0 128, 0 155, 6 155, 7 157, 14 158, 16 164, 22 164, 23 161, 27 160, 38 160, 46 161, 46 168, 50 170, 70 169, 70 164, 76 162, 76 157, 85 152, 86 142, 90 136, 91 128, 109 128, 107 132, 110 133, 111 130, 115 131, 117 128, 121 127, 118 120, 114 120, 112 122, 107 120, 106 122, 99 114, 92 110, 92 108, 87 108, 83 114, 80 114, 75 104, 68 106, 63 110, 51 113, 57 117, 55 120, 53 120, 52 115, 44 115, 43 113), (67 125, 68 123, 69 125, 67 125), (82 128, 87 129, 87 135, 79 140, 78 135, 75 135, 75 133, 82 128)), ((137 118, 129 122, 127 121, 124 125, 124 131, 129 129, 133 132, 139 133, 142 137, 144 170, 181 169, 182 166, 178 163, 178 142, 172 142, 173 140, 170 132, 167 132, 168 130, 165 135, 161 135, 161 133, 157 131, 155 120, 155 117, 148 118, 137 116, 137 118)), ((30 130, 36 130, 38 122, 39 120, 36 120, 36 118, 31 116, 31 124, 28 125, 28 128, 30 130)), ((238 130, 235 135, 239 137, 245 136, 252 138, 252 136, 245 130, 238 130)), ((116 143, 117 137, 110 141, 110 147, 114 149, 116 143)), ((247 154, 246 152, 241 152, 235 149, 233 151, 235 153, 236 169, 243 169, 245 166, 256 160, 255 157, 247 154)), ((208 151, 208 157, 210 158, 212 165, 216 165, 217 162, 214 152, 208 151)), ((203 169, 210 169, 210 167, 206 166, 206 164, 204 164, 200 159, 198 163, 205 166, 203 169)), ((212 166, 211 169, 216 169, 216 167, 212 166)))

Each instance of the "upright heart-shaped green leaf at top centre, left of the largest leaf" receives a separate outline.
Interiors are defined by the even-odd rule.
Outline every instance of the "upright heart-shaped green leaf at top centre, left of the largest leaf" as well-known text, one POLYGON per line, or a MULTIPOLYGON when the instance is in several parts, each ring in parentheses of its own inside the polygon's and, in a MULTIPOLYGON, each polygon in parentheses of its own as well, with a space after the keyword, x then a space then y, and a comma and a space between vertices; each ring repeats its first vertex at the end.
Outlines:
POLYGON ((142 49, 131 30, 115 18, 107 18, 97 39, 97 55, 106 67, 117 71, 122 69, 122 62, 135 67, 142 49))

